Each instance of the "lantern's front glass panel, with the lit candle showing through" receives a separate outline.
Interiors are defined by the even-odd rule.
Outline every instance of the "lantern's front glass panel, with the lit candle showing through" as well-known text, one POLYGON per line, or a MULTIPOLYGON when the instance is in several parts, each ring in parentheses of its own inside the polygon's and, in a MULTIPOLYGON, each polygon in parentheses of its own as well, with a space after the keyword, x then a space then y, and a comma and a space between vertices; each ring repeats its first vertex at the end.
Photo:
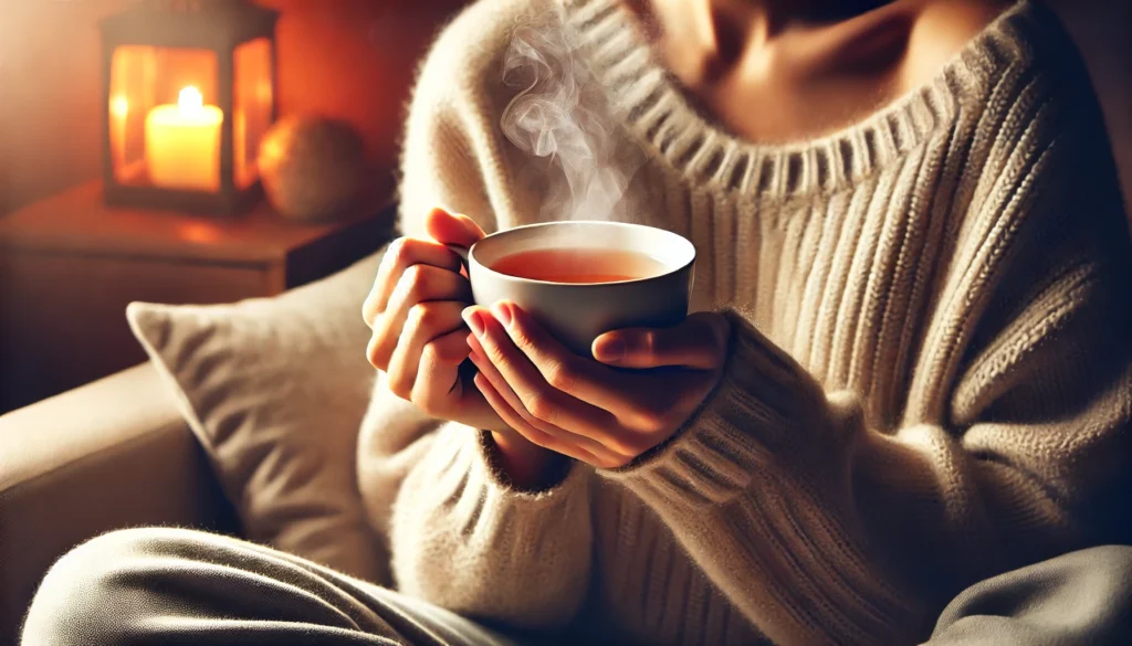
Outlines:
POLYGON ((122 45, 110 67, 110 152, 122 184, 216 191, 216 53, 122 45))

